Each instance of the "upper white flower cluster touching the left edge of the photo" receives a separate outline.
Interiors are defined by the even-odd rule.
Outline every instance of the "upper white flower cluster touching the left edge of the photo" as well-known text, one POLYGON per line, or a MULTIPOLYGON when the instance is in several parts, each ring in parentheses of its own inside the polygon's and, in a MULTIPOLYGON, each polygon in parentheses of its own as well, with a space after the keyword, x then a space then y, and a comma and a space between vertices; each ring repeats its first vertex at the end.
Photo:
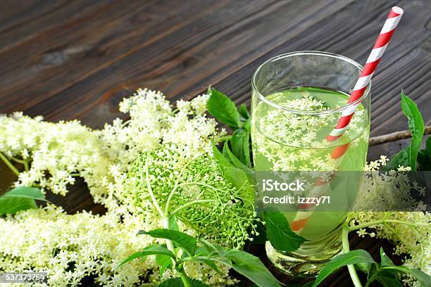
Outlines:
POLYGON ((25 166, 15 186, 37 185, 64 196, 79 175, 96 202, 104 193, 100 181, 107 179, 109 162, 101 153, 99 137, 78 121, 54 124, 22 113, 1 117, 0 152, 25 166))

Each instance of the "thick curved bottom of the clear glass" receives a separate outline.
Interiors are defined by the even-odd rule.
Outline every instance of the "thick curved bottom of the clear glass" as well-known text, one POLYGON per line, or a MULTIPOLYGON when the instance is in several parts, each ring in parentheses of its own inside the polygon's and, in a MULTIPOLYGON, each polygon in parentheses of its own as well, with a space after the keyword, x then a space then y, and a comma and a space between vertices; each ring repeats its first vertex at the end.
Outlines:
POLYGON ((340 224, 329 234, 313 238, 313 241, 306 241, 294 253, 277 250, 267 241, 266 255, 274 266, 285 274, 305 278, 316 277, 328 261, 342 253, 341 228, 340 224))

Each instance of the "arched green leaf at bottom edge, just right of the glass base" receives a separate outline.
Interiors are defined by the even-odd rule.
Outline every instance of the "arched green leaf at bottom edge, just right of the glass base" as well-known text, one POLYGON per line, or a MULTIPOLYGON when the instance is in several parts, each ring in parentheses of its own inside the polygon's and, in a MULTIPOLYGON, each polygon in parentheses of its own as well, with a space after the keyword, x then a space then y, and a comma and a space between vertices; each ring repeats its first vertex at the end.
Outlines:
POLYGON ((375 263, 373 257, 366 252, 366 250, 358 249, 353 250, 348 253, 344 253, 342 255, 338 255, 334 257, 330 262, 328 262, 322 270, 320 270, 319 275, 316 278, 316 281, 313 283, 313 287, 318 286, 327 276, 329 276, 332 272, 339 269, 340 267, 349 265, 349 264, 358 264, 361 262, 366 263, 375 263))

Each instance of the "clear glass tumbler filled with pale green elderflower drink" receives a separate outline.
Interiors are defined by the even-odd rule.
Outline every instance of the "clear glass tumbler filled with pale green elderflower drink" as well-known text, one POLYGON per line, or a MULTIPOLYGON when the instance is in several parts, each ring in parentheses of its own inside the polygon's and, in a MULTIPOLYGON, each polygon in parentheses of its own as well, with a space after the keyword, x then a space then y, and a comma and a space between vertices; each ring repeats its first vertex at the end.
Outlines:
MULTIPOLYGON (((354 60, 318 51, 285 53, 258 67, 251 80, 256 174, 363 171, 371 84, 358 101, 347 104, 361 70, 354 60), (346 132, 336 141, 327 141, 343 111, 356 103, 358 108, 346 132), (339 151, 344 153, 334 158, 339 151)), ((337 195, 342 195, 349 187, 339 189, 337 195)), ((301 210, 298 203, 294 206, 282 213, 291 229, 307 241, 294 252, 277 250, 268 241, 266 252, 273 264, 288 274, 315 276, 342 248, 346 210, 318 212, 314 208, 301 210)))

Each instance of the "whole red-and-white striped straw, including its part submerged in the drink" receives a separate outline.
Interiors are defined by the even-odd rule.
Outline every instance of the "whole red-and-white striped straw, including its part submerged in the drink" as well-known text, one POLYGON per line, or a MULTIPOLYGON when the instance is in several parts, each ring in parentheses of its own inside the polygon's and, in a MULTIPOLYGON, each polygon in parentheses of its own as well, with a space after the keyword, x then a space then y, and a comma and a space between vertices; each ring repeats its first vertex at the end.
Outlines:
MULTIPOLYGON (((394 6, 392 7, 389 15, 387 15, 387 19, 385 25, 383 25, 382 30, 380 31, 379 37, 373 46, 373 50, 371 50, 370 56, 368 56, 368 60, 366 65, 363 67, 361 75, 359 75, 358 81, 355 84, 354 91, 351 93, 349 97, 349 101, 347 103, 354 103, 358 101, 363 93, 366 91, 368 84, 370 83, 371 77, 377 68, 377 64, 380 62, 380 58, 382 58, 383 53, 385 52, 387 45, 389 44, 389 40, 394 34, 394 30, 401 20, 401 16, 403 15, 403 9, 394 6)), ((327 141, 335 141, 337 140, 347 129, 347 126, 350 123, 351 118, 353 117, 356 108, 359 106, 361 101, 355 103, 353 106, 350 106, 346 110, 342 112, 342 117, 339 118, 337 126, 332 130, 329 136, 327 136, 327 141)), ((349 143, 344 144, 342 146, 337 146, 334 151, 332 151, 331 160, 335 161, 335 166, 339 165, 339 162, 344 158, 344 154, 349 148, 349 143)), ((317 191, 318 193, 323 193, 330 185, 330 181, 333 177, 330 177, 329 181, 323 181, 318 179, 315 184, 315 188, 313 191, 317 191)), ((313 193, 312 191, 312 193, 313 193)), ((318 194, 316 194, 317 196, 318 194)), ((316 209, 315 205, 300 205, 300 210, 307 211, 298 211, 296 212, 296 216, 294 220, 290 223, 290 227, 293 231, 300 231, 303 229, 308 219, 313 214, 313 211, 316 209)))

